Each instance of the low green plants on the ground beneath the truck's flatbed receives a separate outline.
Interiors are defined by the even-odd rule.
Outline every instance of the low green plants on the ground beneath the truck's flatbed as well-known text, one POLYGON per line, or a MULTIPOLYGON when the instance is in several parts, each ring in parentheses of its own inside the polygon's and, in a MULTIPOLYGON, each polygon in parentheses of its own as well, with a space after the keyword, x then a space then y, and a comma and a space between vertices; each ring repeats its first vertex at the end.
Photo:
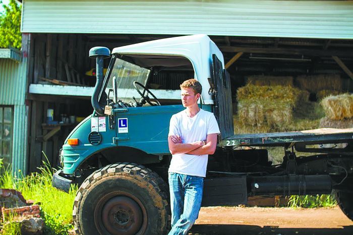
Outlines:
POLYGON ((331 195, 305 195, 305 196, 297 196, 292 195, 289 197, 288 207, 297 208, 314 208, 314 207, 332 207, 336 206, 337 201, 331 195))

